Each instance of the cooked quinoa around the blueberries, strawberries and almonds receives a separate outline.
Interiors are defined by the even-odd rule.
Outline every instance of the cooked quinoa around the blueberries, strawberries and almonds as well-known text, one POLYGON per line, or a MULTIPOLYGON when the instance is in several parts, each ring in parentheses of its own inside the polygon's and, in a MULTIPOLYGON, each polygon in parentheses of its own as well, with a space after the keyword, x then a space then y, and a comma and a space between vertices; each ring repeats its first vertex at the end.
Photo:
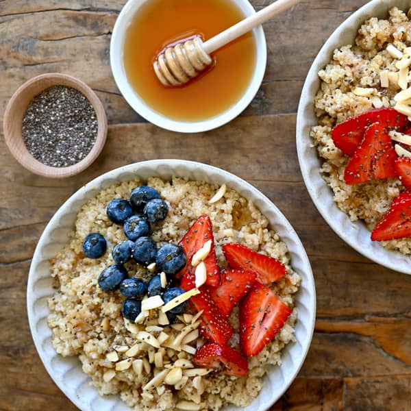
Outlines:
MULTIPOLYGON (((218 190, 218 186, 180 178, 173 178, 171 182, 151 178, 147 184, 158 190, 169 203, 169 214, 164 222, 152 227, 155 241, 160 244, 178 242, 201 214, 208 214, 213 223, 219 265, 227 266, 221 250, 226 242, 241 242, 255 251, 277 258, 286 265, 288 273, 272 288, 288 306, 294 306, 293 295, 301 279, 292 271, 286 245, 269 228, 269 221, 251 201, 227 189, 222 199, 210 204, 208 200, 218 190)), ((197 379, 188 377, 179 390, 162 383, 152 390, 143 391, 142 387, 164 370, 164 365, 156 366, 153 361, 155 352, 162 352, 164 363, 174 363, 179 359, 190 361, 192 354, 164 348, 156 351, 145 344, 130 362, 143 360, 143 370, 146 371, 137 375, 137 367, 135 369, 127 364, 129 357, 125 350, 136 344, 136 335, 130 332, 130 324, 127 325, 121 315, 124 297, 119 291, 108 293, 101 290, 97 277, 105 267, 114 263, 112 247, 125 240, 123 227, 108 219, 106 206, 114 198, 128 198, 133 188, 139 185, 141 183, 137 180, 113 184, 90 199, 77 215, 75 231, 69 244, 51 261, 56 292, 49 299, 51 314, 48 321, 53 330, 55 350, 62 356, 79 356, 83 371, 90 375, 92 384, 101 395, 119 394, 128 406, 136 410, 178 409, 182 401, 189 401, 198 410, 219 410, 230 403, 247 406, 260 392, 267 367, 270 364, 280 365, 282 349, 295 340, 295 308, 275 339, 258 356, 249 358, 249 373, 246 377, 232 377, 217 370, 197 379), (82 252, 82 242, 92 232, 99 232, 108 240, 108 251, 97 260, 86 258, 82 252), (126 360, 123 364, 127 368, 122 371, 116 369, 123 368, 116 367, 123 360, 126 360)), ((147 280, 153 275, 136 263, 129 262, 125 266, 129 277, 147 280)), ((238 308, 234 308, 229 320, 234 327, 229 345, 238 349, 238 308)), ((149 321, 158 322, 155 314, 150 314, 149 321)), ((142 325, 132 326, 144 329, 142 325)), ((164 326, 164 331, 172 333, 173 329, 164 326)), ((158 337, 159 332, 152 334, 158 337)), ((201 338, 197 338, 190 344, 199 347, 203 343, 201 338)))

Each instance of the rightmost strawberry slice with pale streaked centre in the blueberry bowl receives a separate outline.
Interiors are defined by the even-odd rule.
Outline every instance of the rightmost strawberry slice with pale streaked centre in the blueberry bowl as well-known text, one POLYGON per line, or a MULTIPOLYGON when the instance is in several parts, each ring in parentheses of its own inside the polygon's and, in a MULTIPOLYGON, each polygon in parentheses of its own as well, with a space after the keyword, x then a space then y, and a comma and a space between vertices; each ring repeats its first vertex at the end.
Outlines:
POLYGON ((240 306, 240 345, 247 357, 256 356, 282 329, 290 308, 267 286, 257 283, 240 306))

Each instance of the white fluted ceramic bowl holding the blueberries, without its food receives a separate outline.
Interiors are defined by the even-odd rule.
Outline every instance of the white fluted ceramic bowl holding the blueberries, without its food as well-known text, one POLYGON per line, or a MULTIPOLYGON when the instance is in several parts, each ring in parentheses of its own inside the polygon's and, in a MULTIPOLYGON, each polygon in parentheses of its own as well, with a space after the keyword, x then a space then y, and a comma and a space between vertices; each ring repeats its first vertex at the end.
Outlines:
MULTIPOLYGON (((315 320, 315 288, 310 262, 294 229, 284 215, 267 197, 244 180, 216 167, 182 160, 151 160, 124 166, 97 177, 80 188, 54 214, 45 228, 30 266, 27 284, 27 312, 30 329, 40 358, 55 384, 75 405, 83 411, 129 410, 119 397, 100 397, 96 388, 89 385, 90 378, 82 372, 77 358, 58 356, 51 342, 51 329, 47 325, 49 308, 47 298, 54 290, 49 268, 49 259, 69 241, 74 229, 77 212, 91 197, 114 182, 150 176, 170 179, 173 175, 204 180, 212 184, 226 183, 240 195, 252 199, 269 219, 271 227, 286 242, 292 266, 301 275, 301 288, 297 293, 298 309, 295 327, 296 343, 286 346, 282 353, 282 366, 272 367, 265 377, 264 388, 251 406, 243 410, 263 411, 268 409, 288 388, 297 375, 310 346, 315 320)), ((238 410, 230 407, 226 410, 238 410)))

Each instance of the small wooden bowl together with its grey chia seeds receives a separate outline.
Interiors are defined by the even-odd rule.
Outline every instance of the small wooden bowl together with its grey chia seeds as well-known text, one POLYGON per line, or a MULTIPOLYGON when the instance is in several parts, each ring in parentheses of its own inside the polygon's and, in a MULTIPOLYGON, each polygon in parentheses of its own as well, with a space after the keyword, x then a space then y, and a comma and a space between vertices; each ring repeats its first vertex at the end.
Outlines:
POLYGON ((70 177, 96 160, 107 136, 107 117, 95 92, 59 73, 23 84, 8 102, 5 142, 25 169, 43 177, 70 177))

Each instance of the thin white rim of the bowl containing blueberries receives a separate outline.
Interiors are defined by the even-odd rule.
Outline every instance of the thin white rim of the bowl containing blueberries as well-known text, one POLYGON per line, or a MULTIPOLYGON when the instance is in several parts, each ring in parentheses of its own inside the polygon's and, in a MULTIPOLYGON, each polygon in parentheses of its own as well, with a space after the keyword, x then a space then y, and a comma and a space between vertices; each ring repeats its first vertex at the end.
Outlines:
MULTIPOLYGON (((225 171, 223 169, 219 169, 215 166, 210 166, 208 164, 203 164, 199 162, 193 162, 193 161, 188 161, 188 160, 176 160, 176 159, 164 159, 164 160, 147 160, 143 162, 137 162, 134 164, 129 164, 127 166, 121 166, 117 169, 114 169, 112 171, 108 171, 107 173, 104 173, 103 175, 100 175, 99 177, 96 177, 95 179, 92 179, 92 181, 88 184, 85 184, 82 186, 82 188, 79 188, 69 199, 64 201, 62 206, 53 214, 51 217, 51 220, 49 223, 47 223, 44 231, 42 232, 40 239, 38 240, 38 244, 36 245, 36 249, 34 251, 34 256, 32 259, 32 263, 30 265, 29 269, 29 276, 28 276, 28 281, 27 281, 27 315, 29 319, 29 327, 30 327, 30 332, 32 334, 32 339, 34 341, 34 345, 36 346, 36 350, 38 352, 38 355, 40 356, 40 359, 42 360, 42 364, 45 366, 45 369, 49 373, 49 376, 55 384, 62 390, 62 392, 68 397, 77 407, 79 407, 81 410, 87 410, 89 411, 90 408, 86 407, 84 408, 84 402, 82 402, 81 397, 78 395, 71 395, 69 393, 68 388, 66 387, 65 384, 63 384, 62 380, 57 378, 57 375, 53 372, 51 369, 51 364, 47 360, 47 356, 45 354, 45 350, 42 349, 42 346, 40 345, 40 338, 38 336, 38 330, 36 329, 36 316, 37 314, 34 314, 34 310, 32 309, 34 306, 34 303, 38 300, 35 299, 34 292, 33 292, 33 286, 36 280, 36 268, 38 264, 41 263, 41 250, 44 245, 47 244, 47 241, 49 241, 49 235, 51 234, 53 228, 55 225, 58 224, 58 221, 60 220, 60 217, 64 216, 64 214, 67 214, 69 210, 75 206, 75 203, 77 198, 82 198, 84 195, 86 195, 86 199, 82 199, 81 203, 82 206, 84 203, 86 203, 90 198, 95 196, 97 192, 108 186, 109 184, 105 186, 99 186, 103 182, 108 182, 110 184, 114 182, 121 182, 121 181, 127 181, 127 179, 121 179, 121 174, 123 173, 134 173, 135 177, 139 177, 139 173, 144 173, 144 168, 145 167, 153 167, 158 170, 160 166, 172 166, 172 167, 177 167, 177 166, 185 166, 186 167, 186 173, 188 173, 188 169, 190 173, 195 173, 199 168, 201 171, 206 173, 206 176, 208 178, 208 182, 211 182, 216 175, 216 173, 220 176, 225 177, 225 179, 230 178, 232 181, 234 181, 236 184, 240 184, 242 187, 245 189, 251 191, 251 195, 258 195, 259 199, 261 199, 264 203, 269 204, 270 208, 273 209, 273 212, 275 212, 275 215, 278 216, 279 220, 281 223, 285 226, 286 233, 288 236, 291 237, 291 240, 293 242, 293 246, 295 249, 298 250, 298 256, 301 259, 301 264, 303 264, 303 269, 300 269, 300 273, 303 272, 304 275, 307 278, 306 284, 304 284, 304 290, 308 291, 308 303, 306 304, 308 306, 308 323, 303 323, 301 326, 306 329, 306 338, 302 342, 300 342, 301 345, 301 354, 299 355, 299 358, 297 358, 298 362, 297 364, 293 361, 293 371, 289 375, 288 379, 286 380, 286 383, 283 384, 281 393, 274 398, 271 398, 269 402, 263 403, 263 407, 265 409, 268 409, 279 397, 281 397, 284 392, 288 389, 290 384, 294 381, 295 377, 299 373, 299 370, 301 369, 301 366, 303 365, 304 360, 306 359, 308 350, 311 345, 312 341, 312 336, 314 334, 314 324, 315 324, 315 319, 316 319, 316 290, 315 290, 315 284, 314 284, 314 276, 312 273, 312 268, 310 266, 310 261, 308 260, 308 256, 306 253, 306 250, 303 247, 303 244, 301 240, 299 239, 299 236, 295 232, 295 229, 292 227, 288 219, 282 214, 282 212, 275 206, 275 204, 268 198, 266 197, 260 190, 246 182, 244 179, 229 173, 228 171, 225 171), (138 171, 140 170, 140 171, 138 171), (98 188, 96 190, 96 188, 98 188)), ((205 180, 206 181, 206 180, 205 180)), ((223 181, 223 180, 222 180, 223 181)), ((250 195, 250 196, 251 196, 250 195)), ((76 206, 76 207, 81 207, 81 206, 76 206)), ((279 224, 278 222, 276 224, 279 224)), ((271 225, 271 222, 270 222, 271 225)), ((287 244, 288 247, 290 247, 289 244, 287 244)), ((290 251, 290 249, 288 250, 290 251)), ((300 288, 299 292, 301 291, 302 288, 300 288)), ((298 295, 298 294, 297 294, 298 295)), ((47 297, 47 296, 46 296, 47 297)), ((46 297, 41 297, 42 299, 45 299, 46 297)), ((304 298, 304 297, 302 297, 304 298)), ((47 306, 47 303, 45 304, 47 306)), ((47 306, 48 310, 48 306, 47 306)), ((297 314, 297 323, 298 324, 298 314, 297 314)), ((297 343, 299 341, 297 340, 297 343)), ((289 349, 292 348, 292 346, 295 345, 295 343, 288 343, 286 347, 290 347, 289 349)), ((288 350, 286 351, 288 352, 288 350)), ((76 356, 77 358, 77 356, 76 356)), ((279 366, 281 367, 281 365, 279 366)), ((269 375, 270 371, 267 373, 269 375)), ((84 373, 84 375, 86 375, 84 373)), ((88 377, 88 375, 87 375, 88 377)), ((127 408, 128 409, 128 408, 127 408)), ((231 409, 231 408, 230 408, 231 409)), ((235 408, 235 410, 238 410, 238 408, 235 408)), ((261 409, 262 410, 262 409, 261 409)))

